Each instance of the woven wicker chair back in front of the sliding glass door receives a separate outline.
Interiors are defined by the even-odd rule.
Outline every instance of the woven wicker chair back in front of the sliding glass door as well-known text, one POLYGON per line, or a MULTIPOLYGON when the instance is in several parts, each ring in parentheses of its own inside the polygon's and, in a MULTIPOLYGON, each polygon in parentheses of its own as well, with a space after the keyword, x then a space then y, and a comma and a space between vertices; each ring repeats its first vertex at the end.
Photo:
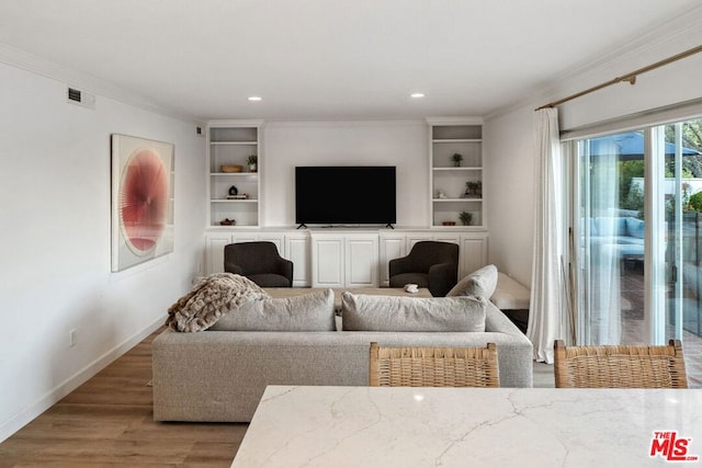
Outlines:
POLYGON ((688 388, 679 340, 667 346, 554 345, 556 388, 688 388))

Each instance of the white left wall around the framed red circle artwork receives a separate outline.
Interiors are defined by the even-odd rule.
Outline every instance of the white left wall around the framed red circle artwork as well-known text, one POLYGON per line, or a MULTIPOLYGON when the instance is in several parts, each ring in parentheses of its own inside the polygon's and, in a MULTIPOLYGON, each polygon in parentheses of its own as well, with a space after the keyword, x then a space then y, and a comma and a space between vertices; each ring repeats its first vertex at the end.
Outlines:
POLYGON ((0 441, 157 328, 200 262, 195 125, 102 96, 87 110, 66 88, 0 64, 0 441), (176 145, 174 252, 122 273, 110 266, 112 133, 176 145))

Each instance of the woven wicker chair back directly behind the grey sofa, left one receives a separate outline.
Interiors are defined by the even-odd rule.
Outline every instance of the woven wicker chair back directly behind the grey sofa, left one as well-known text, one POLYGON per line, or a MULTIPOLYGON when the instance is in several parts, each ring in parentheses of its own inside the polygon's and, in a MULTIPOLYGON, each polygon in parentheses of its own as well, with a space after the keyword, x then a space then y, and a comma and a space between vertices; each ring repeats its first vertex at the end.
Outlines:
POLYGON ((497 346, 383 347, 371 343, 371 387, 499 387, 497 346))

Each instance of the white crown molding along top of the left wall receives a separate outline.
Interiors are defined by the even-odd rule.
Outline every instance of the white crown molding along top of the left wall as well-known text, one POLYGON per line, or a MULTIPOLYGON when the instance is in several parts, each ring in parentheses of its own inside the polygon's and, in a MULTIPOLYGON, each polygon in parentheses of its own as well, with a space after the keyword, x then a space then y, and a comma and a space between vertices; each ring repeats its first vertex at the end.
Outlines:
POLYGON ((72 70, 45 58, 0 43, 0 62, 32 73, 66 83, 67 85, 106 99, 118 101, 144 111, 188 123, 203 124, 201 118, 150 102, 147 98, 127 91, 91 75, 72 70))

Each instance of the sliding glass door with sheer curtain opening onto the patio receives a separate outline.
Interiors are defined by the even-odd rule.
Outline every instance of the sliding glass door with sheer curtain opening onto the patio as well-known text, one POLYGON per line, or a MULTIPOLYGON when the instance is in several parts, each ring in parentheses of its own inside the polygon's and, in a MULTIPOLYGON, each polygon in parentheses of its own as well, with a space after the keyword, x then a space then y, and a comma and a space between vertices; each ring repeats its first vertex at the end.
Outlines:
POLYGON ((582 139, 576 147, 578 343, 698 339, 702 121, 582 139))

